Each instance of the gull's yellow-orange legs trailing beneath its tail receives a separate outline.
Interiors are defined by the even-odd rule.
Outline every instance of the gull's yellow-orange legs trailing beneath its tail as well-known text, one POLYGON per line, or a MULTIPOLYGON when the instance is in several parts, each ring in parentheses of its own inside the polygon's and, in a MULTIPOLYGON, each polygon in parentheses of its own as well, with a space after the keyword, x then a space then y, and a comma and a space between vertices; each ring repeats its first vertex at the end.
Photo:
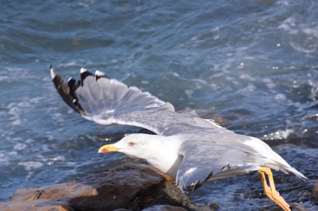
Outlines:
POLYGON ((291 211, 289 208, 290 205, 279 195, 279 192, 276 191, 273 173, 269 167, 261 166, 260 170, 258 171, 261 175, 262 184, 264 187, 264 193, 272 199, 276 204, 278 204, 284 211, 291 211), (268 177, 269 185, 267 185, 265 174, 268 177))

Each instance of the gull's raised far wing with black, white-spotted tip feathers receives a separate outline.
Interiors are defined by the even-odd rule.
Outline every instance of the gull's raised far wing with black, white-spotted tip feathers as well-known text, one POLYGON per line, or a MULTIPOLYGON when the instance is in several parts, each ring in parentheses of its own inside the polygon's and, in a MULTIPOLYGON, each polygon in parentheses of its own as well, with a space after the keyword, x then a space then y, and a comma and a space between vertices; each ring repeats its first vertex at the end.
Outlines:
POLYGON ((81 80, 67 82, 50 69, 54 85, 63 98, 84 118, 99 124, 139 126, 158 135, 184 132, 185 126, 220 128, 212 121, 196 117, 195 112, 176 113, 172 104, 164 102, 136 87, 108 78, 103 72, 95 75, 81 69, 81 80))

